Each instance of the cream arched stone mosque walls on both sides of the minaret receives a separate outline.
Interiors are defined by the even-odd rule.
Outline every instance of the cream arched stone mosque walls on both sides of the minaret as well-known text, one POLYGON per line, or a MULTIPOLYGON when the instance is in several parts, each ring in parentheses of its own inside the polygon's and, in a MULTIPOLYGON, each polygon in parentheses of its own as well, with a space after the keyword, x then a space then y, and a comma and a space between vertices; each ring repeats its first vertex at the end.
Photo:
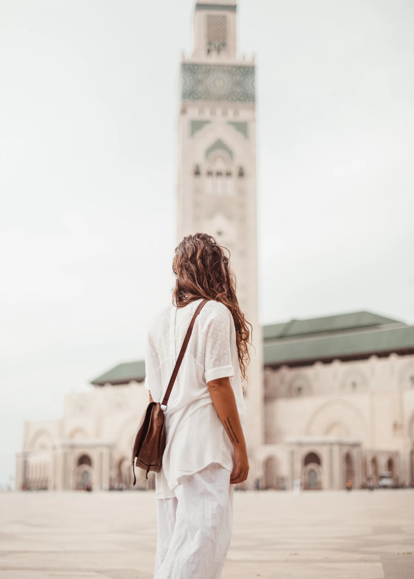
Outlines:
MULTIPOLYGON (((414 356, 265 371, 265 443, 252 462, 260 488, 341 489, 414 481, 414 356), (354 385, 356 383, 356 386, 354 385)), ((148 403, 143 383, 68 394, 64 418, 27 422, 16 488, 132 485, 130 447, 148 403), (85 474, 86 473, 86 474, 85 474)), ((260 417, 259 417, 260 419, 260 417)), ((137 488, 152 488, 136 469, 137 488)))

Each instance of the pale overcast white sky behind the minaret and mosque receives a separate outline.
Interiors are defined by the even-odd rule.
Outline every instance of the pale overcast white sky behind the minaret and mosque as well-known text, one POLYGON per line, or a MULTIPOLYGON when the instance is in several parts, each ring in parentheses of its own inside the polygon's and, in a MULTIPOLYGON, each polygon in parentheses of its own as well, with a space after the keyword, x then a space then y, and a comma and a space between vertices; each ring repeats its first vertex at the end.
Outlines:
MULTIPOLYGON (((0 1, 0 484, 23 420, 143 356, 169 300, 193 0, 0 1)), ((241 0, 262 323, 414 323, 414 3, 241 0)))

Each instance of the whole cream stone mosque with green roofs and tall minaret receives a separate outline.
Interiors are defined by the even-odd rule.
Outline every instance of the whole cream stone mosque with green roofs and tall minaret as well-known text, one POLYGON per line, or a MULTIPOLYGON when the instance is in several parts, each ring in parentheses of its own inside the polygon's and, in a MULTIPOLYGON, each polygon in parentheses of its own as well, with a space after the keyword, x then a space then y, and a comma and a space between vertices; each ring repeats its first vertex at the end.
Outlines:
MULTIPOLYGON (((259 326, 255 63, 237 57, 236 14, 233 0, 195 5, 194 51, 181 61, 177 238, 203 231, 229 248, 253 325, 248 486, 413 485, 414 326, 371 312, 259 326)), ((144 380, 144 361, 120 364, 93 391, 68 394, 63 418, 26 422, 16 489, 130 488, 144 380)), ((142 471, 135 488, 153 484, 142 471)))

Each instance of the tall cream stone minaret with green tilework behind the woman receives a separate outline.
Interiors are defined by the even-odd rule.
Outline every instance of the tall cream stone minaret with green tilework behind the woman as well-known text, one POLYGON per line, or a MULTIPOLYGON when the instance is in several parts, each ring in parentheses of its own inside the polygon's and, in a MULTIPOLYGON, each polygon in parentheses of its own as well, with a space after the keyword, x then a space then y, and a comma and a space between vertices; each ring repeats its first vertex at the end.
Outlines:
POLYGON ((230 250, 238 299, 253 326, 246 441, 250 484, 263 444, 262 335, 257 315, 256 115, 254 61, 236 57, 236 4, 197 3, 194 52, 181 63, 178 227, 214 236, 230 250), (253 352, 252 352, 253 354, 253 352))

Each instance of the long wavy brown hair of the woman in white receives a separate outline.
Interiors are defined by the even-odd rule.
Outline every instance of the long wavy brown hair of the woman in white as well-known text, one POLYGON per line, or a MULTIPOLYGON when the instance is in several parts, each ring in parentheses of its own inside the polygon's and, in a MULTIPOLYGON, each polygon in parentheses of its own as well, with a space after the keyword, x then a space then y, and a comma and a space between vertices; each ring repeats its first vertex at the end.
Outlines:
POLYGON ((206 233, 184 237, 177 245, 173 259, 173 273, 177 280, 172 301, 175 306, 184 307, 196 299, 208 298, 223 303, 230 310, 236 330, 239 367, 242 379, 246 380, 252 325, 240 309, 236 278, 229 258, 230 251, 206 233))

